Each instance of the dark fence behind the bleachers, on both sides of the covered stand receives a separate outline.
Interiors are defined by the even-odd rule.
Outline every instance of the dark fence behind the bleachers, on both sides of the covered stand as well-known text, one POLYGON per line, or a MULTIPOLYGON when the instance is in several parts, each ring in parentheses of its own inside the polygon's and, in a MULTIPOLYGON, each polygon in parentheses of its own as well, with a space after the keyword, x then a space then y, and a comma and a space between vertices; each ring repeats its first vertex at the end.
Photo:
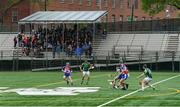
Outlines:
MULTIPOLYGON (((116 21, 97 23, 96 31, 106 28, 107 32, 134 32, 134 31, 180 31, 180 18, 141 20, 141 21, 116 21)), ((29 26, 19 26, 29 32, 29 26)), ((22 30, 22 29, 19 29, 22 30)), ((18 25, 0 25, 0 32, 18 32, 18 25)))

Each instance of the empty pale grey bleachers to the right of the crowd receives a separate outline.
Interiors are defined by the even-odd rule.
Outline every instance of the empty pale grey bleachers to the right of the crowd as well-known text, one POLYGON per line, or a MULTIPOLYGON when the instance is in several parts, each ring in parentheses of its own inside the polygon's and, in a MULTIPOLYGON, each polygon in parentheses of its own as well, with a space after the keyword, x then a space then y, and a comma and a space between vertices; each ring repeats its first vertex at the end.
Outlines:
MULTIPOLYGON (((97 56, 109 55, 139 55, 156 51, 180 51, 178 34, 109 34, 106 40, 101 41, 97 56), (107 51, 111 52, 107 54, 107 51), (103 54, 102 54, 103 53, 103 54)), ((164 55, 164 54, 163 54, 164 55)), ((136 57, 136 56, 134 56, 136 57)))

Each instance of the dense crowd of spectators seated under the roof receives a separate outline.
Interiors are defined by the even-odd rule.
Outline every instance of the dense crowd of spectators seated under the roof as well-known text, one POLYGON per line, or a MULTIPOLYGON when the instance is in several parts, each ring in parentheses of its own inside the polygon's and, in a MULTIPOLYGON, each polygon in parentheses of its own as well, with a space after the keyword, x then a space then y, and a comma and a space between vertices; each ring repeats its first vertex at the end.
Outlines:
POLYGON ((77 25, 71 27, 65 25, 53 26, 51 29, 38 27, 37 30, 32 30, 31 34, 19 33, 17 38, 14 38, 14 44, 22 47, 25 56, 29 56, 32 49, 35 56, 51 51, 53 58, 55 54, 60 56, 61 52, 65 52, 68 57, 80 57, 83 54, 91 57, 92 39, 92 28, 81 27, 77 30, 77 25))

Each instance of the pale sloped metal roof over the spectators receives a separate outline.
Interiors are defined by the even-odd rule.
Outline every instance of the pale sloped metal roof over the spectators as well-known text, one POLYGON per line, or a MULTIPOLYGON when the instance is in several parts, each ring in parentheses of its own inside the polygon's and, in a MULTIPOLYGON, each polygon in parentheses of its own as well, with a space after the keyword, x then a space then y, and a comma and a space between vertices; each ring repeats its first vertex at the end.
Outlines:
POLYGON ((39 11, 18 23, 93 23, 106 14, 107 11, 39 11))

